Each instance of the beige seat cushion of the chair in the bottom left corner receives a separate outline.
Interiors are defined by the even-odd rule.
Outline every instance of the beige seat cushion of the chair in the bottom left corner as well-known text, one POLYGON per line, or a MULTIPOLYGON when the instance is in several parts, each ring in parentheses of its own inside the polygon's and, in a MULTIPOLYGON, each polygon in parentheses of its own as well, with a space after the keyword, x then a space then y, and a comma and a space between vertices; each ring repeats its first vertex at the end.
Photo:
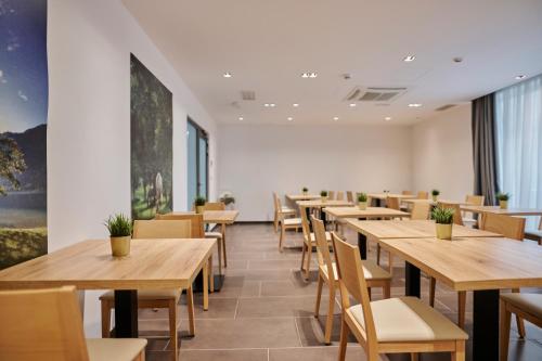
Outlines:
POLYGON ((87 338, 90 361, 132 361, 145 346, 144 338, 87 338))

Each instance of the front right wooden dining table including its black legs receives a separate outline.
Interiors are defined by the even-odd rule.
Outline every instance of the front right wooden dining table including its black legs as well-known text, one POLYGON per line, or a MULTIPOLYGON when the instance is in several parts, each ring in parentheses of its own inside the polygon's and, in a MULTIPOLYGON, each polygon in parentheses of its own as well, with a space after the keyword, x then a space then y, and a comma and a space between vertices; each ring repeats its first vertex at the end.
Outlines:
POLYGON ((457 292, 474 292, 472 360, 499 360, 500 289, 542 286, 542 247, 504 237, 380 238, 405 260, 405 295, 420 297, 424 271, 457 292))

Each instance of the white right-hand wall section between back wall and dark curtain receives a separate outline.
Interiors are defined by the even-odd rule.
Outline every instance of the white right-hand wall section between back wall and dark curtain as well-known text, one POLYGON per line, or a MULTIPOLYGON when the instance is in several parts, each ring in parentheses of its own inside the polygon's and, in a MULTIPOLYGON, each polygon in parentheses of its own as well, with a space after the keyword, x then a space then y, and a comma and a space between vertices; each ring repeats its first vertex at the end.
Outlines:
POLYGON ((441 197, 473 193, 470 104, 444 111, 413 126, 412 177, 416 190, 438 189, 441 197))

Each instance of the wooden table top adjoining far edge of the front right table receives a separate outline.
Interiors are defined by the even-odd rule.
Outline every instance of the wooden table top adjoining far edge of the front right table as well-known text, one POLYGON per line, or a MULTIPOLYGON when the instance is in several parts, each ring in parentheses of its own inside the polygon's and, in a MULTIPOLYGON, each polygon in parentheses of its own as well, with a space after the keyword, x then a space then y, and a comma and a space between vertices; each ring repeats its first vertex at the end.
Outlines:
MULTIPOLYGON (((435 237, 436 225, 430 220, 357 220, 348 219, 347 225, 366 237, 417 238, 435 237)), ((498 237, 501 234, 482 231, 465 225, 453 224, 452 237, 498 237)))

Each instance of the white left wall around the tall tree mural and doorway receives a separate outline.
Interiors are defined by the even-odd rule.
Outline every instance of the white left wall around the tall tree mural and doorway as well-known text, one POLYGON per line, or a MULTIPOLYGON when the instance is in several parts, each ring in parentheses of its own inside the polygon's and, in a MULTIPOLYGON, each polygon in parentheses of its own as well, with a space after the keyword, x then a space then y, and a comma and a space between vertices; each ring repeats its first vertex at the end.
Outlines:
MULTIPOLYGON (((173 93, 173 207, 186 203, 186 115, 216 127, 119 1, 49 1, 49 249, 106 237, 103 220, 130 212, 130 52, 173 93)), ((209 175, 216 192, 216 172, 209 175)), ((100 330, 98 292, 86 297, 88 335, 100 330)))

